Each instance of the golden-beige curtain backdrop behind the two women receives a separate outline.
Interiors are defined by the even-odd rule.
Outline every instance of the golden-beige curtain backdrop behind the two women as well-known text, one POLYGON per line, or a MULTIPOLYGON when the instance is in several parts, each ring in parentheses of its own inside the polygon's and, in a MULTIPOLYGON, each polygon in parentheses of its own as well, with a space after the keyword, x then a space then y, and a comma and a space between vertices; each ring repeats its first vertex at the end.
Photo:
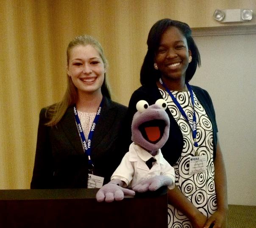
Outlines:
POLYGON ((76 35, 100 41, 109 59, 113 100, 128 105, 140 85, 153 23, 168 17, 191 27, 218 26, 212 20, 217 6, 241 4, 256 5, 250 0, 2 0, 0 189, 30 186, 39 111, 64 94, 66 47, 76 35))

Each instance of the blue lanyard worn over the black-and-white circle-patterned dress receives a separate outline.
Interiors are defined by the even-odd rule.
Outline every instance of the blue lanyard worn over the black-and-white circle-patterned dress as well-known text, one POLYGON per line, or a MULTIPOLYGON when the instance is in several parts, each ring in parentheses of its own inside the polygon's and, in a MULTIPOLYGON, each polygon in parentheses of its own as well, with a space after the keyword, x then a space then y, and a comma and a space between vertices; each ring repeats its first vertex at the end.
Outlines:
POLYGON ((178 109, 180 110, 181 114, 184 116, 186 121, 189 123, 189 126, 192 129, 192 136, 193 136, 193 139, 194 139, 194 145, 195 145, 195 147, 198 147, 198 143, 196 141, 197 127, 196 127, 196 114, 195 114, 195 100, 194 100, 194 95, 193 95, 193 91, 192 91, 191 86, 189 85, 188 82, 186 82, 186 87, 189 90, 189 93, 190 93, 190 96, 191 96, 191 100, 192 100, 192 106, 193 106, 193 122, 192 122, 192 124, 189 122, 189 118, 187 117, 185 111, 182 109, 180 103, 178 103, 178 100, 175 98, 173 93, 167 88, 167 86, 164 84, 164 82, 162 81, 161 78, 159 79, 159 82, 165 88, 165 90, 169 93, 169 95, 171 96, 173 102, 178 107, 178 109))

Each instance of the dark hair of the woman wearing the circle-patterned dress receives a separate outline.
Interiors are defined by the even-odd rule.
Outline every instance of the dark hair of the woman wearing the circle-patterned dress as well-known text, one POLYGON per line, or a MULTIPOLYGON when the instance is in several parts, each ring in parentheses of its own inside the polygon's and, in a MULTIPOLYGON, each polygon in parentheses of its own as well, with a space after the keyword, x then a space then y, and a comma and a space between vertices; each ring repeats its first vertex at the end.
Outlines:
POLYGON ((161 77, 161 72, 157 71, 153 66, 154 57, 159 48, 162 34, 171 26, 174 26, 181 31, 186 38, 189 50, 192 52, 192 62, 189 63, 189 66, 186 69, 186 81, 192 79, 197 65, 201 65, 200 53, 194 39, 191 36, 191 29, 189 25, 184 22, 179 22, 168 18, 161 19, 151 27, 148 33, 147 54, 145 55, 142 68, 140 70, 140 82, 142 85, 156 83, 156 81, 161 77))

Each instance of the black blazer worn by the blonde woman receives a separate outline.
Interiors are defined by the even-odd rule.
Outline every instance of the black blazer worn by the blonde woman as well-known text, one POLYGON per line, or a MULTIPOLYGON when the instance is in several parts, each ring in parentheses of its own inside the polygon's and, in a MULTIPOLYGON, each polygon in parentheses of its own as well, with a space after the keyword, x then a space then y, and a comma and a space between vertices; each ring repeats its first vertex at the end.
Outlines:
MULTIPOLYGON (((31 189, 87 187, 88 157, 78 133, 70 106, 54 127, 45 125, 46 110, 40 112, 36 156, 31 189)), ((92 138, 94 174, 109 182, 126 149, 121 148, 121 127, 127 107, 104 98, 92 138)))

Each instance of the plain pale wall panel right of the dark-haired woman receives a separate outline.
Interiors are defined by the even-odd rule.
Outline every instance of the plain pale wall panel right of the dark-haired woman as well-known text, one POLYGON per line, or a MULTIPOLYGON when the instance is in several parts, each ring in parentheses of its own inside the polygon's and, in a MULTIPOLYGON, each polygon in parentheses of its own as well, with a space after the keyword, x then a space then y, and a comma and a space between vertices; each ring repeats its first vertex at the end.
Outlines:
POLYGON ((202 66, 190 82, 214 103, 228 204, 256 206, 256 34, 195 37, 202 66))

